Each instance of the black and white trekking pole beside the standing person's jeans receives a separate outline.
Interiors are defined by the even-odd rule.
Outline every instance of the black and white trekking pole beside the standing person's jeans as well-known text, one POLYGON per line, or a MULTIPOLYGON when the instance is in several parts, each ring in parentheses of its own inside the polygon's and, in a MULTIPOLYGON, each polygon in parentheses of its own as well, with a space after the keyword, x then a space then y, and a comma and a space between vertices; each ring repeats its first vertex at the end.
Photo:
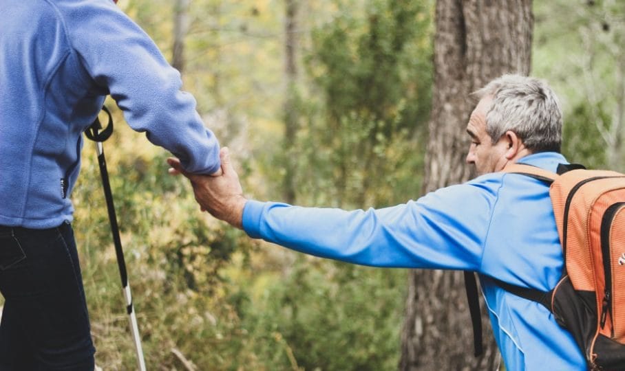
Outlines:
POLYGON ((102 186, 104 188, 104 196, 106 199, 107 210, 109 212, 109 222, 111 223, 111 232, 113 234, 113 242, 115 245, 115 254, 117 256, 117 265, 119 274, 122 279, 122 287, 124 297, 126 299, 126 311, 130 320, 130 330, 134 339, 134 345, 137 352, 137 364, 140 371, 145 371, 145 360, 143 359, 143 349, 141 348, 141 338, 139 337, 139 328, 137 326, 137 317, 134 313, 132 305, 132 295, 130 294, 130 286, 128 284, 128 275, 126 273, 126 262, 124 260, 124 251, 119 237, 119 227, 117 225, 117 217, 115 215, 115 206, 113 205, 113 194, 111 192, 111 184, 109 183, 109 172, 106 168, 106 159, 104 157, 104 147, 102 142, 109 139, 113 133, 113 117, 109 110, 103 106, 102 110, 109 115, 109 123, 106 128, 102 128, 100 120, 96 117, 93 124, 85 131, 85 136, 96 142, 98 150, 98 164, 100 165, 100 176, 102 177, 102 186))

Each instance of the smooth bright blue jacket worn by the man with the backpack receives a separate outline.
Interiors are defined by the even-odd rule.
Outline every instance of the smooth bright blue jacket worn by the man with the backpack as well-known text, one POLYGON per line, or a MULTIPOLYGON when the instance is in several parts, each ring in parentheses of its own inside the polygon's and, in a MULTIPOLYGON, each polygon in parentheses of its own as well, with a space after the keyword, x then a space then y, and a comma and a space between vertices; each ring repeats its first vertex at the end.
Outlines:
MULTIPOLYGON (((538 153, 519 162, 555 172, 566 159, 538 153)), ((507 370, 586 370, 573 337, 547 308, 489 279, 543 291, 558 282, 562 248, 540 181, 492 173, 368 211, 248 201, 243 227, 253 238, 359 265, 476 271, 507 370)))

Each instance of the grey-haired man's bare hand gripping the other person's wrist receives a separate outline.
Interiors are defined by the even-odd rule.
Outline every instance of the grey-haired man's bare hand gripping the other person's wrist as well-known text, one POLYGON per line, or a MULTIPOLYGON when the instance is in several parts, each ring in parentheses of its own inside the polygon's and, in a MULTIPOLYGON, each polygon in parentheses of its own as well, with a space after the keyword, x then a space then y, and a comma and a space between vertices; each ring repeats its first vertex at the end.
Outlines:
POLYGON ((167 164, 171 166, 169 174, 182 174, 191 181, 195 201, 198 201, 202 211, 207 211, 215 218, 242 229, 243 207, 247 200, 243 196, 239 176, 231 164, 227 147, 220 150, 220 160, 221 171, 213 175, 191 174, 185 171, 180 165, 180 160, 174 157, 167 159, 167 164))

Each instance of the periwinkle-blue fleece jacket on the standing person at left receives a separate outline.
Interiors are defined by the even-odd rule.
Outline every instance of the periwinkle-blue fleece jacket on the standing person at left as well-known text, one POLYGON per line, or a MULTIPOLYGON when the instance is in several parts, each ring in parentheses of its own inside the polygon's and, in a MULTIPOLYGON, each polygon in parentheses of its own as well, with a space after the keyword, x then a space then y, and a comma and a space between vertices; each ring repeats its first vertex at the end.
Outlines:
POLYGON ((0 0, 0 14, 0 225, 72 220, 81 133, 107 94, 184 168, 218 170, 219 144, 180 74, 113 1, 0 0))

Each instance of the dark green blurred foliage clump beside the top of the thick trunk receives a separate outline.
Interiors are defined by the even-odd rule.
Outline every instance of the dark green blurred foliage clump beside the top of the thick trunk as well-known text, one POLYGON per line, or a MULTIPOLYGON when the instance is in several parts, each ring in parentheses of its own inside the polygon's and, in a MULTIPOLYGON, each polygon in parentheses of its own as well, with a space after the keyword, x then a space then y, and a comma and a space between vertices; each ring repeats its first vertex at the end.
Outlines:
POLYGON ((423 122, 416 113, 430 104, 432 9, 389 0, 368 1, 366 8, 365 16, 343 8, 312 33, 309 63, 319 68, 312 76, 325 93, 329 124, 352 111, 372 120, 399 112, 401 126, 413 128, 423 122))

